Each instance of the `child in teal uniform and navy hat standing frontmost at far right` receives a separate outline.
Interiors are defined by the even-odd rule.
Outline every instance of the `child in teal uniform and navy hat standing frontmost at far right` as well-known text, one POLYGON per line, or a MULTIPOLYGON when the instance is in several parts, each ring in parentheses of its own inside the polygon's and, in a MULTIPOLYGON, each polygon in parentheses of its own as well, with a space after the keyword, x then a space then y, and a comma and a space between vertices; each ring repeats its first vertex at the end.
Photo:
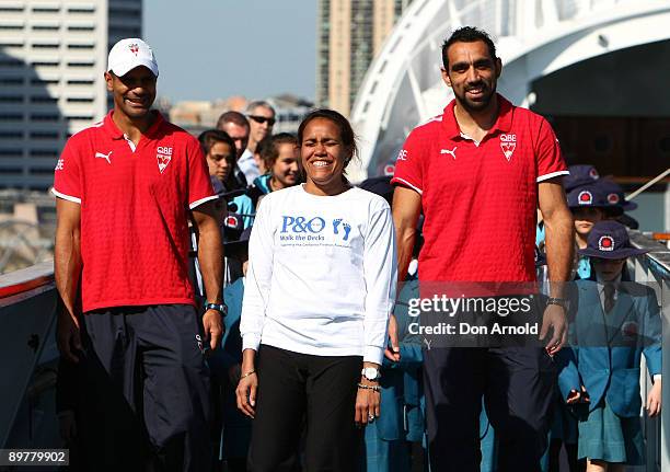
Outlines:
POLYGON ((558 387, 566 403, 586 410, 579 417, 579 458, 587 471, 623 471, 645 462, 640 419, 640 356, 654 387, 646 408, 661 407, 661 322, 654 290, 625 281, 626 258, 643 254, 631 245, 625 227, 594 225, 580 255, 589 256, 596 280, 576 283, 576 318, 570 347, 557 357, 558 387))

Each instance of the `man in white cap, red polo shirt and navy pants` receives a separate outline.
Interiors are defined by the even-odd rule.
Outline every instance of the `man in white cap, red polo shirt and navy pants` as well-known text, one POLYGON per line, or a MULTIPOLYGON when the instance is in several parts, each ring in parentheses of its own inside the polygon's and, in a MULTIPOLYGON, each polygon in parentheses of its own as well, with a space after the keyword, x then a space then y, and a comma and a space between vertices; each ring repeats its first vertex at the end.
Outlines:
POLYGON ((204 353, 219 345, 226 313, 217 197, 198 141, 151 110, 158 74, 143 41, 114 45, 114 110, 72 136, 56 165, 58 346, 80 372, 86 470, 201 471, 211 457, 204 353))

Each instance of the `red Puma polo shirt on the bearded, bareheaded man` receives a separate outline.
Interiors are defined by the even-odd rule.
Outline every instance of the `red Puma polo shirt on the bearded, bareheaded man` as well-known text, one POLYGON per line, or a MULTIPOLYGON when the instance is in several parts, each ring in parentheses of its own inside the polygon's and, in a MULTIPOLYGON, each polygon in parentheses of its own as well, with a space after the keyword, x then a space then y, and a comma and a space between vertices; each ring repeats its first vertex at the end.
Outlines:
POLYGON ((391 182, 418 192, 425 216, 419 280, 535 280, 538 183, 567 166, 543 117, 498 103, 482 142, 461 134, 452 101, 400 151, 391 182))

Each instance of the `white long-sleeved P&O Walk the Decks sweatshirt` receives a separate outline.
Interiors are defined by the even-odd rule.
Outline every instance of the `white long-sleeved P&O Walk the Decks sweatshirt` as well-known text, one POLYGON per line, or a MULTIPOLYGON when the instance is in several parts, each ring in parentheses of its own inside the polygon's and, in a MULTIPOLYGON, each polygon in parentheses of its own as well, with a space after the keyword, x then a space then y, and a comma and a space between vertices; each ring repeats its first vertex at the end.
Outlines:
POLYGON ((395 300, 391 209, 354 187, 316 196, 302 185, 263 198, 249 242, 242 349, 261 343, 381 364, 395 300))

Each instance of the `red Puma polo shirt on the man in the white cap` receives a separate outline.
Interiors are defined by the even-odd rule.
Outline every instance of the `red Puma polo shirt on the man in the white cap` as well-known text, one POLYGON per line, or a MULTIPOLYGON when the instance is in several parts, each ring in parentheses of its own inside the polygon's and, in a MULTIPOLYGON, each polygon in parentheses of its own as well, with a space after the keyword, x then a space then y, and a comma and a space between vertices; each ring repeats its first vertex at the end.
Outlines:
POLYGON ((194 303, 189 209, 216 198, 193 136, 157 114, 137 148, 112 119, 72 136, 54 194, 81 205, 83 311, 194 303))

